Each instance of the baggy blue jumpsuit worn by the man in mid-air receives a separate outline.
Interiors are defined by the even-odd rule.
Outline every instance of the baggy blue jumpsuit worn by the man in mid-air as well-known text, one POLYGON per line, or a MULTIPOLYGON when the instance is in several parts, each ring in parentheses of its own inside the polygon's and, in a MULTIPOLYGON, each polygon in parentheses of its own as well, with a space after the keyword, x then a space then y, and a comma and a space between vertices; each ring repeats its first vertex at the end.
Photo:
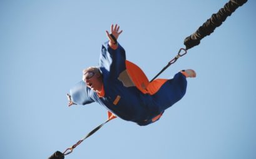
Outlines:
POLYGON ((187 80, 181 72, 178 72, 173 79, 165 79, 158 85, 156 91, 150 94, 141 92, 133 84, 134 79, 130 78, 131 75, 126 69, 125 49, 118 44, 118 48, 113 50, 108 42, 105 42, 100 54, 104 97, 99 97, 95 91, 86 87, 82 80, 70 90, 71 100, 81 105, 97 102, 123 120, 138 125, 148 125, 155 122, 153 118, 161 116, 166 108, 171 107, 185 95, 187 80))

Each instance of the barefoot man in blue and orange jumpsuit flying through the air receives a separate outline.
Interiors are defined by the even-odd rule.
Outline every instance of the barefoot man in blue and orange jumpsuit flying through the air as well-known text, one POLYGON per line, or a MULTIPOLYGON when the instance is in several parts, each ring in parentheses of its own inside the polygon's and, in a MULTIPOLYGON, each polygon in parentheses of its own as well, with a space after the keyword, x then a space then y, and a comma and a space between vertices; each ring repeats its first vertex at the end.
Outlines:
POLYGON ((138 125, 158 120, 166 108, 182 99, 187 77, 196 77, 194 70, 182 70, 173 79, 149 82, 142 70, 126 60, 125 50, 117 42, 122 31, 111 25, 109 39, 101 48, 100 66, 83 70, 83 80, 71 90, 69 106, 98 102, 114 115, 138 125))

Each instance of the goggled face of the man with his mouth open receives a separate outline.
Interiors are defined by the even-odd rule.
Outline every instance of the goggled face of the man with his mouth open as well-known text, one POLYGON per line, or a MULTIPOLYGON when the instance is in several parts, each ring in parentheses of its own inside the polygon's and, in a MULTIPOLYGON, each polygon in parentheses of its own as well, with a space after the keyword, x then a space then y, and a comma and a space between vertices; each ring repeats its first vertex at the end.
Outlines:
POLYGON ((86 72, 86 74, 84 74, 84 82, 86 83, 87 87, 89 87, 90 89, 96 91, 100 91, 102 88, 102 82, 101 82, 101 78, 100 75, 95 74, 95 72, 86 72))

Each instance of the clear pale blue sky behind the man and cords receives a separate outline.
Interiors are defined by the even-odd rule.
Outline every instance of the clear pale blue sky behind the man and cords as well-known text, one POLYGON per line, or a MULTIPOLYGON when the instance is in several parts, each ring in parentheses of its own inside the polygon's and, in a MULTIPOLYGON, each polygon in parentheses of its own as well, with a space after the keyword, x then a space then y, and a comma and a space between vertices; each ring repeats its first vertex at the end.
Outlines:
MULTIPOLYGON (((67 107, 98 65, 112 23, 126 59, 153 78, 224 0, 0 1, 0 158, 48 158, 106 120, 101 105, 67 107)), ((194 69, 187 94, 151 125, 117 118, 65 158, 256 158, 255 1, 168 68, 194 69)))

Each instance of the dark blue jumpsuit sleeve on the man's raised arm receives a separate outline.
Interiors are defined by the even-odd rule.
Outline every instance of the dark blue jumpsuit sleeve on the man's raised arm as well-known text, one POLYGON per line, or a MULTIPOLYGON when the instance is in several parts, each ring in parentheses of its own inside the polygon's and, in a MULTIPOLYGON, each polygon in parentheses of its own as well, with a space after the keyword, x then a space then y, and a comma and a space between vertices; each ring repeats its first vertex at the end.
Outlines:
POLYGON ((116 50, 111 49, 108 41, 101 47, 100 70, 103 76, 116 79, 126 69, 125 60, 125 49, 119 43, 116 50))

